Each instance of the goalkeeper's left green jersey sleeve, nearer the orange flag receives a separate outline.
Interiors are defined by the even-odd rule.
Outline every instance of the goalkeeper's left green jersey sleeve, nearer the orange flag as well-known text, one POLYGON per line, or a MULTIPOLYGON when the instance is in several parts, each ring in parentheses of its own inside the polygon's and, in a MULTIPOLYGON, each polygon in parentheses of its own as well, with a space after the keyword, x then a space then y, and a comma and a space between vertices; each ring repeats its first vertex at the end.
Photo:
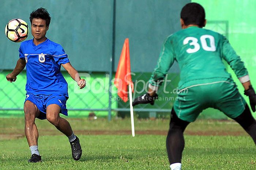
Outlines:
POLYGON ((156 88, 162 84, 163 79, 174 63, 174 60, 175 55, 172 45, 172 37, 170 36, 165 40, 162 46, 157 65, 149 80, 149 87, 151 89, 156 90, 156 88))

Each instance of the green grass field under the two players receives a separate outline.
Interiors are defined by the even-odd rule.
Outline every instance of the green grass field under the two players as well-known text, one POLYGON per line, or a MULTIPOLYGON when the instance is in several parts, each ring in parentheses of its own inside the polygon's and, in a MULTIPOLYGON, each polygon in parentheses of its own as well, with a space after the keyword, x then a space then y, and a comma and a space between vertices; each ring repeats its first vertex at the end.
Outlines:
MULTIPOLYGON (((129 119, 68 120, 80 138, 82 158, 74 161, 67 138, 47 121, 37 121, 43 162, 31 164, 23 118, 1 118, 0 169, 169 170, 169 120, 136 120, 136 132, 146 135, 135 137, 128 134, 129 119), (162 135, 150 135, 157 133, 162 135)), ((235 122, 198 120, 185 134, 183 170, 256 170, 255 144, 235 122)))

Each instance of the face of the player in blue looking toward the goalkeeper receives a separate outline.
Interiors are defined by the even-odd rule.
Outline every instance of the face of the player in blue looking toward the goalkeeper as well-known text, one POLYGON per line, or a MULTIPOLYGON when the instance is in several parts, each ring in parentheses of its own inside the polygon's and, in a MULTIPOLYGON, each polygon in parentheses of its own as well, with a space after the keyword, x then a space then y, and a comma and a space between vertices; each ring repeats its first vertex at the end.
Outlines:
POLYGON ((41 18, 33 18, 31 23, 31 33, 35 40, 44 40, 48 28, 49 27, 46 26, 46 20, 41 18))

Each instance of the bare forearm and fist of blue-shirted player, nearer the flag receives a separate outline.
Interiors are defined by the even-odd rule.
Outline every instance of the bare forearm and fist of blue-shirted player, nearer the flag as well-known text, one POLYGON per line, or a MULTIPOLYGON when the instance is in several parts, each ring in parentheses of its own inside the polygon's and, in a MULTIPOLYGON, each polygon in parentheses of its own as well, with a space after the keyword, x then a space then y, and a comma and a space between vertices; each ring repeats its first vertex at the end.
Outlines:
POLYGON ((84 88, 86 86, 86 81, 80 78, 78 71, 76 71, 76 69, 70 63, 61 65, 63 66, 63 68, 65 68, 65 70, 67 70, 71 78, 77 82, 80 88, 84 88))

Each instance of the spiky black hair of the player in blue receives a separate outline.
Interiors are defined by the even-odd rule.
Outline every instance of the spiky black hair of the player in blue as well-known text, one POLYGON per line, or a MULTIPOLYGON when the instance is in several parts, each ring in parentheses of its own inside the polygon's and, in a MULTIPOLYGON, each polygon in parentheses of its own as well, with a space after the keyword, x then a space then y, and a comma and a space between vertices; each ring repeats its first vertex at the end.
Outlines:
POLYGON ((32 24, 33 18, 41 18, 46 21, 46 26, 49 26, 51 17, 48 11, 45 8, 38 8, 37 10, 34 10, 30 13, 29 20, 30 23, 32 24))

